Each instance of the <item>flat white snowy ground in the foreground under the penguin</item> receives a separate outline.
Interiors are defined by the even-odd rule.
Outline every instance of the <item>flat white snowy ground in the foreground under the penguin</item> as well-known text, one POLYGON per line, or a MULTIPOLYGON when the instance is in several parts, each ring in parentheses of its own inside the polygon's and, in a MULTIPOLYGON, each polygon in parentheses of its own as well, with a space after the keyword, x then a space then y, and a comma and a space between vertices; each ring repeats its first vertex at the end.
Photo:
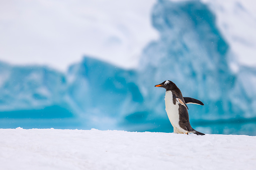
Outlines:
POLYGON ((0 129, 1 169, 255 169, 256 136, 0 129))

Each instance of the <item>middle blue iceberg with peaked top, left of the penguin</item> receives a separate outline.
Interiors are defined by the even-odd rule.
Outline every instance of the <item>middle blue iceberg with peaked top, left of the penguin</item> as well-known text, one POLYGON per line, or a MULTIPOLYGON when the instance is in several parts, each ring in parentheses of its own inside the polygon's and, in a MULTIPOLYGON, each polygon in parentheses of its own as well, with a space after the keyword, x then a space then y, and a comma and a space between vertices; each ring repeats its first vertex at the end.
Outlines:
POLYGON ((97 128, 114 129, 143 102, 137 73, 92 57, 69 67, 68 95, 81 117, 97 128))

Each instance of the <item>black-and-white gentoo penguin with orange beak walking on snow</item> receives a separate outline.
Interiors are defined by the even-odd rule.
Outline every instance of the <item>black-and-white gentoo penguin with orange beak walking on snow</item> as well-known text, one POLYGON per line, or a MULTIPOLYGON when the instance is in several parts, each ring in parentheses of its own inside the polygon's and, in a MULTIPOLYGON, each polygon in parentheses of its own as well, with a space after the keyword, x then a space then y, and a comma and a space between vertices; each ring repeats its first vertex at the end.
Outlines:
POLYGON ((195 133, 205 135, 193 129, 189 122, 188 106, 186 103, 204 105, 201 101, 190 97, 183 97, 181 90, 172 81, 166 80, 155 87, 163 87, 165 92, 165 110, 170 123, 174 126, 174 133, 195 133))

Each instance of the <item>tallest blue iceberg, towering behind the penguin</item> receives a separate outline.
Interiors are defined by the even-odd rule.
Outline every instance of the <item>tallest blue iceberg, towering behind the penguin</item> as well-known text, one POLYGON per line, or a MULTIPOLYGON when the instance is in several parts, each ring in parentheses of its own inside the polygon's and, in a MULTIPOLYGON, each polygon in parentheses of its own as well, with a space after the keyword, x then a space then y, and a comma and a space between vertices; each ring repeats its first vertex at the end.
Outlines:
POLYGON ((140 77, 145 78, 140 79, 140 84, 148 90, 146 98, 157 102, 163 94, 153 90, 153 85, 172 80, 184 96, 206 104, 192 114, 192 119, 239 115, 241 110, 235 111, 228 97, 236 83, 227 63, 228 44, 208 7, 198 1, 159 1, 153 8, 152 22, 160 39, 145 48, 140 61, 140 77), (145 83, 149 77, 142 75, 149 75, 151 83, 145 83))

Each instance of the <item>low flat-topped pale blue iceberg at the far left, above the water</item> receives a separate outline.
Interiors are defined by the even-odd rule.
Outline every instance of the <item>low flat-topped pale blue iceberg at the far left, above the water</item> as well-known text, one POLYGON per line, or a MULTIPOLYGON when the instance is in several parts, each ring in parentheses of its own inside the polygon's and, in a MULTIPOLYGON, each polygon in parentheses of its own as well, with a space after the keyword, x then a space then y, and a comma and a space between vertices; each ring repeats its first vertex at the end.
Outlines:
POLYGON ((42 108, 64 105, 66 78, 44 66, 11 66, 0 63, 0 109, 42 108))

